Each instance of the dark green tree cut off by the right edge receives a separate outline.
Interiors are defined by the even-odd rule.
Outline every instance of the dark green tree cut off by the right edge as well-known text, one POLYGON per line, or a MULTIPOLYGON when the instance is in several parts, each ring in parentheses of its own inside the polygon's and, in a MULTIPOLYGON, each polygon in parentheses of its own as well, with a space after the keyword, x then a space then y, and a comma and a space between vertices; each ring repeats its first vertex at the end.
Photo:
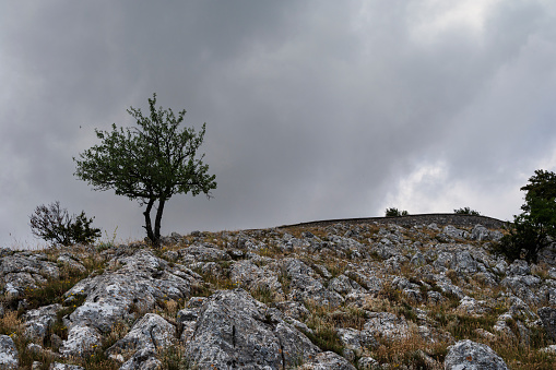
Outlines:
POLYGON ((506 255, 510 261, 524 259, 536 262, 539 252, 556 238, 556 175, 536 170, 521 188, 527 191, 524 211, 513 216, 507 226, 508 234, 493 247, 493 251, 506 255))

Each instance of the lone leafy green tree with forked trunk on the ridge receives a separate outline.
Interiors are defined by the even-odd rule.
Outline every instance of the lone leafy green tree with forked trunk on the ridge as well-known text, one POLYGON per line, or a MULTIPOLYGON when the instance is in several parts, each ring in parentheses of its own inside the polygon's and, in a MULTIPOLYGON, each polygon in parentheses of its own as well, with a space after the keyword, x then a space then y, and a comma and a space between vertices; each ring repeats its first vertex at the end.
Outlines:
POLYGON ((193 128, 180 128, 186 110, 176 117, 171 109, 155 107, 156 94, 149 99, 150 115, 130 107, 137 127, 117 128, 111 131, 95 129, 103 142, 80 154, 75 160, 75 176, 87 181, 94 190, 114 189, 117 195, 126 195, 146 205, 143 215, 147 238, 153 244, 161 241, 161 222, 164 205, 171 195, 204 193, 211 198, 216 189, 214 175, 203 164, 203 155, 197 156, 204 138, 206 123, 200 132, 193 128), (155 207, 155 202, 158 202, 155 207), (154 228, 151 212, 156 208, 154 228))

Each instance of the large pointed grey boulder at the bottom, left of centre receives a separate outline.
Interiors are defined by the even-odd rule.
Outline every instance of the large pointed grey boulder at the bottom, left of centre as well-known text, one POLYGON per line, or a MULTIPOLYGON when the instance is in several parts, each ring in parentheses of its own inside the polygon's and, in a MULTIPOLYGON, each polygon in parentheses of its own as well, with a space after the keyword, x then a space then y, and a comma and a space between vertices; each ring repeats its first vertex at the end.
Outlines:
POLYGON ((242 289, 220 290, 202 302, 187 357, 200 369, 283 369, 319 348, 242 289))

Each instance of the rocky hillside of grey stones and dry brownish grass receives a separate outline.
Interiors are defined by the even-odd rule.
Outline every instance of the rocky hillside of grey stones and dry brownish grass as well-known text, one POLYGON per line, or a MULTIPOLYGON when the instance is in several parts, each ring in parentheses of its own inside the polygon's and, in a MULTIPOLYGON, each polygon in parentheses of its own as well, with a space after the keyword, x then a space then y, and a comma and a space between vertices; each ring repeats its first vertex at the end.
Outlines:
POLYGON ((338 223, 0 250, 2 369, 556 369, 556 253, 338 223))

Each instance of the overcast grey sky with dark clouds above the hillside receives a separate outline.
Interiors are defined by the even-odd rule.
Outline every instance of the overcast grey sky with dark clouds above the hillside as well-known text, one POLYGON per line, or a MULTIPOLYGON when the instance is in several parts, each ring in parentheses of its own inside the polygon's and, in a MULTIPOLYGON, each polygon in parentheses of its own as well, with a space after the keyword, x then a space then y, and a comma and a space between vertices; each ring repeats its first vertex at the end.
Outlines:
POLYGON ((38 244, 28 217, 54 201, 144 237, 72 157, 153 93, 206 122, 218 184, 170 199, 163 235, 391 206, 512 219, 556 170, 553 0, 4 1, 0 77, 1 247, 38 244))

